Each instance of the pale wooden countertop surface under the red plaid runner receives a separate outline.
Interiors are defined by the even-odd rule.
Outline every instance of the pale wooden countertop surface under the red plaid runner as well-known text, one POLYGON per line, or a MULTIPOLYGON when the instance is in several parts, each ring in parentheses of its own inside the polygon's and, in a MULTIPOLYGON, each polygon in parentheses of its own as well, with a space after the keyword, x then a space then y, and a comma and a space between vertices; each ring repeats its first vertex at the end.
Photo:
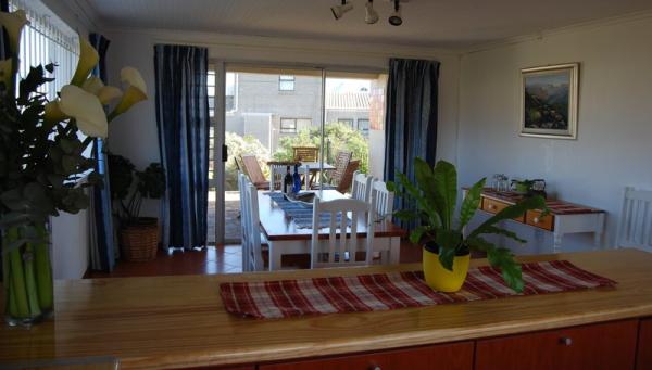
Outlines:
MULTIPOLYGON (((89 356, 116 356, 123 369, 247 363, 652 315, 652 254, 618 250, 522 258, 550 259, 568 259, 616 280, 618 285, 391 311, 252 320, 224 310, 220 282, 412 270, 419 266, 58 281, 54 321, 32 330, 0 326, 0 365, 89 356)), ((0 305, 4 306, 2 302, 0 305)))

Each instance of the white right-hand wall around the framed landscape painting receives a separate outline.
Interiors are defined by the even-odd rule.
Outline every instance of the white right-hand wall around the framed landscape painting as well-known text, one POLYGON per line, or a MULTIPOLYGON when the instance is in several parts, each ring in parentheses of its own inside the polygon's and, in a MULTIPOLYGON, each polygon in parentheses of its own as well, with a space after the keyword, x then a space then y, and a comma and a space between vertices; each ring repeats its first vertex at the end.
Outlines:
MULTIPOLYGON (((461 183, 494 173, 544 178, 559 199, 607 210, 605 245, 615 242, 623 190, 652 189, 652 17, 566 29, 462 58, 461 183), (577 140, 518 137, 519 69, 579 62, 577 140)), ((549 253, 550 235, 532 234, 522 253, 549 253)), ((591 248, 588 235, 563 250, 591 248)))

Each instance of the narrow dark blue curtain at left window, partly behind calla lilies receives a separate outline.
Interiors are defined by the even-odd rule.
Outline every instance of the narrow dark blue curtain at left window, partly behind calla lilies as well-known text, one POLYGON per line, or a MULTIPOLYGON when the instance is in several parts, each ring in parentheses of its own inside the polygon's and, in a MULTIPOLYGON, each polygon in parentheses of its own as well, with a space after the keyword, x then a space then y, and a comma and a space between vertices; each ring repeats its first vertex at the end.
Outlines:
MULTIPOLYGON (((106 49, 109 41, 104 36, 98 34, 89 35, 90 44, 96 48, 100 56, 100 62, 92 71, 93 76, 106 82, 106 49)), ((104 177, 103 187, 93 187, 92 207, 90 209, 93 217, 91 227, 92 232, 90 245, 90 268, 93 270, 112 271, 115 265, 115 244, 113 239, 113 214, 111 210, 111 190, 109 189, 109 161, 104 150, 105 141, 96 139, 91 155, 97 158, 95 170, 104 177)))

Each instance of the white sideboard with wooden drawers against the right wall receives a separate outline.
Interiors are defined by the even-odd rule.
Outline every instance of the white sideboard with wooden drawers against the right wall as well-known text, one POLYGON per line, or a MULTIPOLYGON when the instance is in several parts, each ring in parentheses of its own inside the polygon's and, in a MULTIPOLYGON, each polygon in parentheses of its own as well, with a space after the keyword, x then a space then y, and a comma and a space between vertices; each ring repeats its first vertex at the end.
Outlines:
MULTIPOLYGON (((466 192, 467 188, 463 191, 466 192)), ((487 214, 497 214, 503 208, 516 204, 522 199, 514 192, 498 192, 492 189, 482 190, 480 210, 487 214)), ((594 245, 601 246, 604 233, 605 212, 564 201, 546 201, 550 214, 541 217, 540 210, 528 210, 513 221, 528 225, 553 234, 553 253, 560 253, 562 239, 565 234, 578 232, 592 232, 594 245)))

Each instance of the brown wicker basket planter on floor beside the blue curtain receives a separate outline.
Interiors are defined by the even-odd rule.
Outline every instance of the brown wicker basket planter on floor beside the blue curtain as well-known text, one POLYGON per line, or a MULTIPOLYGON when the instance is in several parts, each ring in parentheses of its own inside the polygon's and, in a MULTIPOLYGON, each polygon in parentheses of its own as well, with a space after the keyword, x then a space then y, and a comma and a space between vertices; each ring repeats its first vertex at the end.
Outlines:
POLYGON ((159 250, 159 220, 139 218, 120 232, 122 257, 129 261, 148 261, 156 258, 159 250))

